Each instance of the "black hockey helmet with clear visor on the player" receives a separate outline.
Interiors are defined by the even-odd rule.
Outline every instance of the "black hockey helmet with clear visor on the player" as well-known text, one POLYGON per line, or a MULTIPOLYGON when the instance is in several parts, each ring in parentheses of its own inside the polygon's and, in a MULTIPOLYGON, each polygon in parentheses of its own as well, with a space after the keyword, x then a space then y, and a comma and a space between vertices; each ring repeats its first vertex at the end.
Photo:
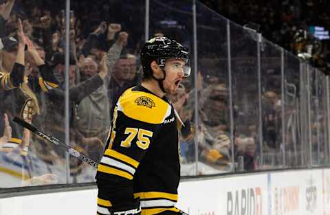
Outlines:
MULTIPOLYGON (((159 67, 164 69, 168 58, 184 60, 186 65, 189 60, 188 48, 175 40, 166 37, 154 37, 144 44, 141 50, 141 62, 144 73, 153 76, 150 64, 155 60, 159 67)), ((190 75, 190 67, 184 67, 184 77, 190 75)))

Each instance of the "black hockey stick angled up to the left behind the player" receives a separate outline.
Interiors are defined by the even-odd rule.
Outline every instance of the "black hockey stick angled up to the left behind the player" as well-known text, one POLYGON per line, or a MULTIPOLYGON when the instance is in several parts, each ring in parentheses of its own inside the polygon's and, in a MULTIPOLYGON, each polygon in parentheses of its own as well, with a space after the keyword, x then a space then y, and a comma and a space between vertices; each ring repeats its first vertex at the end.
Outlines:
POLYGON ((43 132, 39 131, 36 127, 32 126, 32 124, 21 120, 19 117, 14 117, 13 121, 16 122, 17 124, 23 126, 24 128, 28 128, 28 130, 32 131, 36 135, 39 135, 40 137, 43 137, 43 139, 47 139, 49 142, 52 142, 56 146, 63 148, 64 150, 69 152, 70 155, 76 157, 77 159, 80 159, 80 161, 84 161, 84 162, 88 163, 90 166, 93 166, 94 168, 98 168, 98 162, 90 159, 89 157, 87 157, 83 153, 78 152, 74 148, 67 146, 67 144, 63 144, 55 137, 52 137, 52 135, 48 135, 47 133, 43 133, 43 132))

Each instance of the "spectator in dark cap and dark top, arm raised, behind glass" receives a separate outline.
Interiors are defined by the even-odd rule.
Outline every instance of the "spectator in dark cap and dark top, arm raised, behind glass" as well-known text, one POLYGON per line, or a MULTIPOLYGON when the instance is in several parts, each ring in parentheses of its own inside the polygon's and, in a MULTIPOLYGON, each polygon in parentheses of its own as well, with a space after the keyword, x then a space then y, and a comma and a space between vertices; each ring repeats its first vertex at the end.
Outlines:
MULTIPOLYGON (((64 124, 64 110, 65 110, 65 54, 56 52, 49 63, 44 65, 41 70, 47 70, 49 76, 54 76, 57 84, 50 84, 43 82, 44 93, 44 113, 39 117, 40 124, 43 130, 55 133, 58 137, 63 137, 65 131, 64 124), (47 85, 46 85, 47 84, 47 85)), ((80 83, 76 83, 76 61, 70 56, 69 58, 69 118, 73 120, 76 113, 76 106, 84 98, 89 96, 93 91, 96 91, 103 84, 102 77, 107 74, 107 66, 105 59, 102 60, 102 69, 100 73, 96 74, 80 83), (105 68, 104 68, 105 67, 105 68)), ((72 135, 74 136, 74 135, 72 135)), ((73 138, 74 139, 74 138, 73 138)))

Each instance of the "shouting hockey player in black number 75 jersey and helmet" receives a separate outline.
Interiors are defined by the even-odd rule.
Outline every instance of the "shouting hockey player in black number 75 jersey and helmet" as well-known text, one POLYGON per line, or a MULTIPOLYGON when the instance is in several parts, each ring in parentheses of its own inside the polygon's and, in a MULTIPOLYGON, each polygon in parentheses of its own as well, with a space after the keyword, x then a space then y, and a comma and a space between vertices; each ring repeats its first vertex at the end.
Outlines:
POLYGON ((98 214, 184 214, 175 207, 180 163, 174 94, 189 76, 188 49, 155 37, 141 51, 142 83, 122 93, 98 166, 98 214))

